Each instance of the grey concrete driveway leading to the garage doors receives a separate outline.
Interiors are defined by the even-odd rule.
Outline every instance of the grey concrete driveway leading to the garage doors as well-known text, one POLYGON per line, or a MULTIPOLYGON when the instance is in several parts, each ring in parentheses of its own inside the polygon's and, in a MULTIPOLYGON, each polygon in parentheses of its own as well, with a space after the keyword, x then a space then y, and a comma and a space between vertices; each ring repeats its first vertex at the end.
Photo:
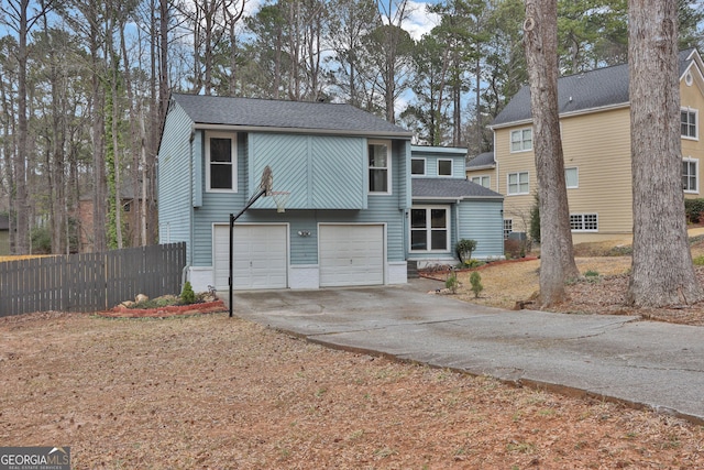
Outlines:
MULTIPOLYGON (((331 348, 588 394, 704 424, 704 328, 503 310, 405 286, 235 292, 234 315, 331 348)), ((227 298, 221 295, 220 298, 227 298)))

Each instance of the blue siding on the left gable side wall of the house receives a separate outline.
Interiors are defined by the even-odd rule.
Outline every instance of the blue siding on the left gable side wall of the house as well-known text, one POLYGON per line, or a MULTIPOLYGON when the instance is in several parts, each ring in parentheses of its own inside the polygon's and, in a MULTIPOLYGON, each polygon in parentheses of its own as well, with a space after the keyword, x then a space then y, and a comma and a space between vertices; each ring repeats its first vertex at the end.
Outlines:
POLYGON ((166 116, 158 151, 160 242, 185 241, 191 260, 191 121, 178 105, 166 116))

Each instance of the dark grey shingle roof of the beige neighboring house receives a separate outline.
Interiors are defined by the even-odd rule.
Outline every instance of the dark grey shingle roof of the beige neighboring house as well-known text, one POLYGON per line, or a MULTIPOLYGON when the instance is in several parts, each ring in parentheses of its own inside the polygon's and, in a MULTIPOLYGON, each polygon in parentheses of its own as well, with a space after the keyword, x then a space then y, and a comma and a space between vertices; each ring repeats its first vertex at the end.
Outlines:
MULTIPOLYGON (((680 52, 680 76, 692 62, 693 48, 680 52)), ((558 110, 582 111, 628 103, 628 64, 597 68, 558 79, 558 110)), ((492 127, 531 119, 530 88, 524 86, 492 122, 492 127)))

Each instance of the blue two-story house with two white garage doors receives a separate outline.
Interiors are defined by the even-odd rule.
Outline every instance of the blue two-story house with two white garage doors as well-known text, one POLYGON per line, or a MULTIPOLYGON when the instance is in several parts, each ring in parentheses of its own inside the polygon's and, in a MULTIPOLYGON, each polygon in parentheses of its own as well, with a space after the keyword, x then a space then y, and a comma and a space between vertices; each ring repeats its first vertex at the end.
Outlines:
POLYGON ((196 291, 228 288, 230 215, 268 166, 288 200, 280 212, 261 197, 235 221, 237 289, 402 284, 410 255, 451 259, 465 234, 501 256, 503 197, 466 182, 464 154, 435 149, 411 162, 410 141, 349 105, 174 94, 158 152, 160 240, 186 242, 196 291), (439 188, 444 179, 461 187, 439 188))

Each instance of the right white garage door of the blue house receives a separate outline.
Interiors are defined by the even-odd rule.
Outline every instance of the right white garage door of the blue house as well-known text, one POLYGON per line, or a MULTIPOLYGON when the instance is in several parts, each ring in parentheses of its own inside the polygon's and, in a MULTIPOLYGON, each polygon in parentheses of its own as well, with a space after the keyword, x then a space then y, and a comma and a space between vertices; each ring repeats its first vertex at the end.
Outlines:
POLYGON ((320 226, 320 286, 384 284, 384 226, 320 226))

